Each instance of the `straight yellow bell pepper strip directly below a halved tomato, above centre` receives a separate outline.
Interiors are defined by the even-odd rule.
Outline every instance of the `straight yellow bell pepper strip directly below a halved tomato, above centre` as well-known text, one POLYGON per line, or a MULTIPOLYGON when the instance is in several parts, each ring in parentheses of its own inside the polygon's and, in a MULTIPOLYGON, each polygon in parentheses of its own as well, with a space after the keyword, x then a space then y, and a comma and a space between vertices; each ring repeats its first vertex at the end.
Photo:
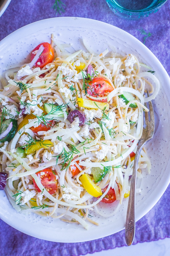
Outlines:
POLYGON ((106 110, 109 109, 108 103, 87 100, 82 98, 78 98, 78 104, 79 104, 79 107, 88 108, 88 109, 104 109, 105 107, 106 107, 106 110))

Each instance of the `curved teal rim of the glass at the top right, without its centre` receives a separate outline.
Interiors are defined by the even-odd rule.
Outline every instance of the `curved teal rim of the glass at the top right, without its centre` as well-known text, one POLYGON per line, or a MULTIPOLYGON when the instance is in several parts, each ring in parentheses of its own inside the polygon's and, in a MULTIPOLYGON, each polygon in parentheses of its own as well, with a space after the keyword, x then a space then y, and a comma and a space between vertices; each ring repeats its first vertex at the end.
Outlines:
MULTIPOLYGON (((121 13, 125 15, 131 15, 131 16, 148 16, 152 12, 157 12, 168 0, 159 1, 155 5, 150 4, 148 7, 143 8, 142 10, 129 10, 122 6, 120 6, 118 3, 116 3, 113 0, 106 0, 109 7, 115 12, 115 13, 121 13)), ((118 14, 117 13, 117 14, 118 14)))

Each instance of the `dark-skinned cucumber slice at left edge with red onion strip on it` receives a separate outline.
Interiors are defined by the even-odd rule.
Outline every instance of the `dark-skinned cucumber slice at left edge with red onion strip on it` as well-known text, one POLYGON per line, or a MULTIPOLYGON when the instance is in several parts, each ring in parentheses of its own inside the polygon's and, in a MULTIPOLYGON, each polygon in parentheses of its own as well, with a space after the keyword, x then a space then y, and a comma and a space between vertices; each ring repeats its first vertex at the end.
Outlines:
POLYGON ((1 131, 1 133, 3 133, 7 129, 8 125, 11 122, 12 122, 12 129, 10 130, 8 135, 6 135, 3 139, 0 140, 0 142, 5 142, 5 141, 9 142, 9 141, 11 141, 14 138, 14 136, 16 134, 16 131, 17 131, 17 127, 18 127, 17 120, 15 120, 15 119, 10 118, 10 119, 5 120, 2 123, 2 131, 1 131))

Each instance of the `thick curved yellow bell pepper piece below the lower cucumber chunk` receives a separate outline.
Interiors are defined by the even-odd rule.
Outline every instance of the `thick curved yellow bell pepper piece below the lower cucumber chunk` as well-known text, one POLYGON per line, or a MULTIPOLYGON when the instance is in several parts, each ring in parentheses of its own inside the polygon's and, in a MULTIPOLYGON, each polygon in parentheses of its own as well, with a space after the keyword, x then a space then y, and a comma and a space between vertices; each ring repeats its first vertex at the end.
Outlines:
POLYGON ((96 184, 91 180, 90 176, 85 173, 80 177, 80 181, 85 188, 85 190, 92 196, 98 197, 102 195, 101 188, 96 186, 96 184))

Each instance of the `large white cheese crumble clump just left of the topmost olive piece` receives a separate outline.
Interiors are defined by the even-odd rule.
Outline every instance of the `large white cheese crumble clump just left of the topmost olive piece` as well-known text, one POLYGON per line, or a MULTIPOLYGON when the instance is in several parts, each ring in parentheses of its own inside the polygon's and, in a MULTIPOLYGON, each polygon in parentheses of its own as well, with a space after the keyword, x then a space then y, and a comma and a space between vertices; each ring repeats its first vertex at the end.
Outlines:
POLYGON ((82 72, 84 73, 84 76, 86 76, 85 71, 77 73, 77 70, 72 70, 69 67, 59 66, 57 69, 60 70, 62 72, 62 75, 66 77, 66 82, 79 82, 79 80, 83 79, 82 72))

